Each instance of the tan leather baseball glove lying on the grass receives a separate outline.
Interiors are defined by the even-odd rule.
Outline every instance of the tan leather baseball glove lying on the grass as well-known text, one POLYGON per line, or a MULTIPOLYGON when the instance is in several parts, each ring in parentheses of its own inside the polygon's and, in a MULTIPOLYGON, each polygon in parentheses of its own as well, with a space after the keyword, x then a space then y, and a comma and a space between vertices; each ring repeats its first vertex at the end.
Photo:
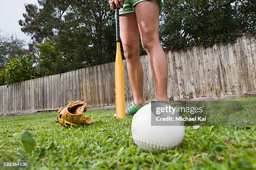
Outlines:
POLYGON ((57 120, 66 127, 90 125, 92 117, 85 117, 84 112, 87 111, 87 105, 84 101, 72 101, 58 110, 57 120))

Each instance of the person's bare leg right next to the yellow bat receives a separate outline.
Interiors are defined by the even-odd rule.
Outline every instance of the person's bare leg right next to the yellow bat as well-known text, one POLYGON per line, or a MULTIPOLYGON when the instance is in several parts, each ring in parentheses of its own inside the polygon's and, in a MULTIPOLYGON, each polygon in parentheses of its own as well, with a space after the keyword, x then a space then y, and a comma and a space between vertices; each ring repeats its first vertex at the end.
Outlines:
POLYGON ((139 30, 135 13, 120 15, 120 38, 133 90, 133 102, 143 106, 143 68, 139 58, 139 30))

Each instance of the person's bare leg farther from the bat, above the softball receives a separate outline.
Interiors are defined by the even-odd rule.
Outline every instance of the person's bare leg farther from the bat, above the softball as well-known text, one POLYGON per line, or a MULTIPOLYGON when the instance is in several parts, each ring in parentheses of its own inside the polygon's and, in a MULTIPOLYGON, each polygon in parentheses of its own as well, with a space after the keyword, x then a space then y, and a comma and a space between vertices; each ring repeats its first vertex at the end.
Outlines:
POLYGON ((141 42, 148 53, 156 84, 156 99, 167 100, 168 65, 159 41, 159 0, 142 1, 135 5, 141 42))

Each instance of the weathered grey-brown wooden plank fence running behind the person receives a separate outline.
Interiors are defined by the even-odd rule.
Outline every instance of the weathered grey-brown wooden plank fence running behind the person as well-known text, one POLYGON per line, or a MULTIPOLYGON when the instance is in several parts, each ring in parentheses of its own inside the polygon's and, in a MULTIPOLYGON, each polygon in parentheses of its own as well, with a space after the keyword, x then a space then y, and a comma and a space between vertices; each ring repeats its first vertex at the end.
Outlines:
MULTIPOLYGON (((234 43, 166 52, 168 96, 187 99, 256 92, 256 40, 240 37, 234 43)), ((154 78, 147 56, 141 56, 146 101, 154 98, 154 78)), ((125 68, 125 101, 132 91, 125 68)), ((115 105, 115 63, 0 86, 0 115, 57 110, 71 100, 89 107, 115 105)))

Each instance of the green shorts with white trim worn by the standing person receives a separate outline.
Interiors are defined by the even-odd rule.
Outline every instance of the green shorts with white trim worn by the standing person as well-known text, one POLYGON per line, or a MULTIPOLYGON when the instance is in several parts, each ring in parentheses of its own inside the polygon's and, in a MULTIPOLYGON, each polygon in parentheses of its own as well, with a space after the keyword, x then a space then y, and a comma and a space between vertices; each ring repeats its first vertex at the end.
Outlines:
MULTIPOLYGON (((125 0, 123 8, 120 9, 119 11, 119 15, 126 14, 126 13, 135 13, 134 6, 138 2, 142 2, 142 1, 146 1, 146 0, 125 0)), ((162 7, 163 7, 162 0, 159 0, 159 11, 161 11, 162 7)))

